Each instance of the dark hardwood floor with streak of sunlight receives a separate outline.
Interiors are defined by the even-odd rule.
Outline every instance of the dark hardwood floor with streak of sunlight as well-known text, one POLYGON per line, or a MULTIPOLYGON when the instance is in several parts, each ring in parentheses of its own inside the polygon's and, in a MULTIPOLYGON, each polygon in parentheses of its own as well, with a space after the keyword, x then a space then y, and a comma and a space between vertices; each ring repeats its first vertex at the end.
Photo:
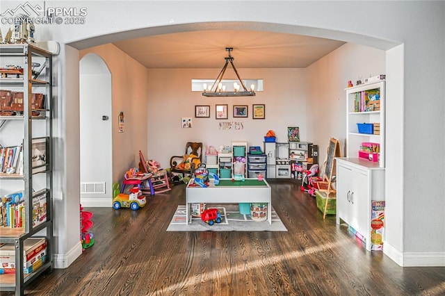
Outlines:
MULTIPOLYGON (((401 268, 337 227, 294 181, 270 181, 287 232, 167 232, 185 185, 145 208, 85 208, 95 245, 27 295, 445 295, 445 268, 401 268)), ((5 293, 6 295, 6 293, 5 293)))

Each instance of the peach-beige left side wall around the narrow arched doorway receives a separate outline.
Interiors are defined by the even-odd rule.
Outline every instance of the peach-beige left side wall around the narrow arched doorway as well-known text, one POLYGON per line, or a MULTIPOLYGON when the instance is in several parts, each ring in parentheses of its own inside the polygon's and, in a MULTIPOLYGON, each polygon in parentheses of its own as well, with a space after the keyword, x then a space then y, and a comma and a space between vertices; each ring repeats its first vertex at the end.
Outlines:
POLYGON ((113 44, 85 49, 80 58, 88 53, 101 56, 111 72, 113 182, 121 182, 129 167, 138 165, 138 151, 147 149, 148 71, 113 44), (121 111, 124 112, 124 133, 118 132, 121 111))

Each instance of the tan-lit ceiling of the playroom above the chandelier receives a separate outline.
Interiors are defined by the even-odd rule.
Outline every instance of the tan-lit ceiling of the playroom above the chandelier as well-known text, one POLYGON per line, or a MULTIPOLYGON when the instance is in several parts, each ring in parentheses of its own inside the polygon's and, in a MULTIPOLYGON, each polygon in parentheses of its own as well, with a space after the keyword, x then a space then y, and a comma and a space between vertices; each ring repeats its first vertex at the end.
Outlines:
POLYGON ((114 42, 148 68, 220 68, 233 47, 237 68, 305 68, 345 42, 262 31, 193 31, 114 42))

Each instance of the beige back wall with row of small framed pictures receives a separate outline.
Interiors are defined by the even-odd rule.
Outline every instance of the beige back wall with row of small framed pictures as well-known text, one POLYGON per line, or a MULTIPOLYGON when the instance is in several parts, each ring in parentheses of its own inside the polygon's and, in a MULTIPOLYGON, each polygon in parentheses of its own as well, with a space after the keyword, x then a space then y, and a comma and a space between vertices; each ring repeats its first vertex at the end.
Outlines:
MULTIPOLYGON (((221 65, 222 67, 223 65, 221 65)), ((264 92, 255 97, 203 97, 191 92, 191 79, 215 79, 220 69, 149 69, 148 151, 163 167, 170 156, 184 154, 188 141, 218 148, 232 141, 247 141, 263 147, 264 135, 272 129, 277 140, 287 142, 287 126, 299 126, 302 140, 307 134, 305 69, 238 69, 242 79, 264 79, 264 92), (215 105, 228 105, 228 119, 216 120, 215 105), (252 104, 266 105, 264 120, 252 119, 252 104), (195 118, 195 105, 209 105, 209 118, 195 118), (247 105, 248 117, 233 117, 234 105, 247 105), (182 129, 181 117, 192 117, 193 128, 182 129), (241 130, 220 129, 220 122, 241 122, 241 130)), ((228 72, 225 78, 234 78, 228 72)))

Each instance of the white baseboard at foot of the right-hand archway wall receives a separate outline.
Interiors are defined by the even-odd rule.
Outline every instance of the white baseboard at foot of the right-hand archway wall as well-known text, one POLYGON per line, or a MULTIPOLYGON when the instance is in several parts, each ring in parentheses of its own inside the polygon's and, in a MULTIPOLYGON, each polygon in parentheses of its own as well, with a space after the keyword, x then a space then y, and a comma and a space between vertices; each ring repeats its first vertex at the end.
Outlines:
POLYGON ((385 242, 383 253, 403 267, 445 266, 445 252, 400 252, 385 242))

